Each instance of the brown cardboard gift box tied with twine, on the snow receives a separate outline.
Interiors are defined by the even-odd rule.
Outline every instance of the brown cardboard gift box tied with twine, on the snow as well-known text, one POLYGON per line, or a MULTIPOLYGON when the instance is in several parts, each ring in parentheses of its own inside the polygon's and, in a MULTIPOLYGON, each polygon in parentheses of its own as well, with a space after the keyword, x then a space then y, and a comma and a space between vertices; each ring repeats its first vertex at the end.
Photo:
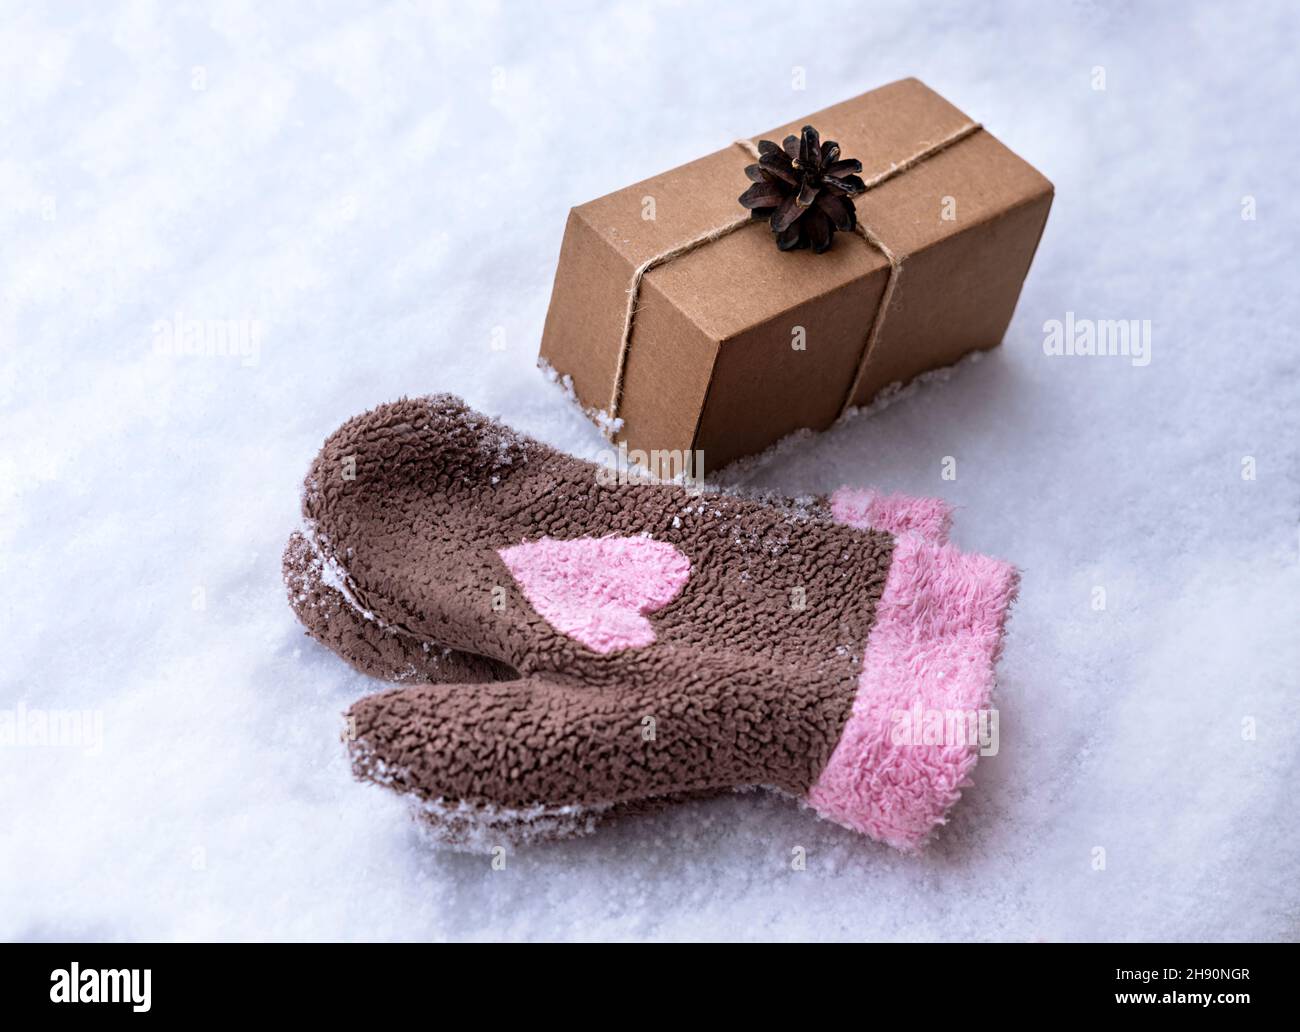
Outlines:
POLYGON ((1001 343, 1052 192, 939 94, 894 82, 573 208, 540 361, 611 441, 718 469, 1001 343), (746 187, 751 204, 779 187, 803 212, 790 204, 814 191, 790 168, 814 160, 838 177, 822 194, 852 199, 852 227, 833 199, 780 233, 779 209, 741 205, 746 187), (819 208, 841 220, 820 253, 819 208), (780 250, 797 243, 812 246, 780 250))

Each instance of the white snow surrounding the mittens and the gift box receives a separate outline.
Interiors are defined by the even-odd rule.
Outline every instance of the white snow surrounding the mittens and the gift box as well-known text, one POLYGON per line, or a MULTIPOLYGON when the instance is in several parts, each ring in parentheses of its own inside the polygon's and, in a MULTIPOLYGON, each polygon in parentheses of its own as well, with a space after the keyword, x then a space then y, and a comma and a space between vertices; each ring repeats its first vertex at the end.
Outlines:
POLYGON ((468 6, 6 5, 0 707, 103 742, 0 747, 0 936, 1295 938, 1292 5, 468 6), (909 74, 1057 186, 1005 346, 733 480, 1023 569, 998 754, 919 858, 763 793, 430 851, 285 604, 315 451, 450 390, 598 454, 534 365, 567 208, 909 74))

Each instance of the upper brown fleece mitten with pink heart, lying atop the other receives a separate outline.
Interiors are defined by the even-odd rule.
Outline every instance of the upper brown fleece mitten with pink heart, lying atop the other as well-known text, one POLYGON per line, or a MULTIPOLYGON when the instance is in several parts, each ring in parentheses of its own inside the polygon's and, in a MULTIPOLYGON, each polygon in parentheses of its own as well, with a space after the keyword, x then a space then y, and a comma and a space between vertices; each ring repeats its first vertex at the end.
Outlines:
POLYGON ((448 396, 330 437, 303 504, 350 608, 495 664, 355 703, 358 775, 471 847, 750 786, 919 846, 975 763, 1014 571, 946 545, 941 503, 608 480, 448 396))

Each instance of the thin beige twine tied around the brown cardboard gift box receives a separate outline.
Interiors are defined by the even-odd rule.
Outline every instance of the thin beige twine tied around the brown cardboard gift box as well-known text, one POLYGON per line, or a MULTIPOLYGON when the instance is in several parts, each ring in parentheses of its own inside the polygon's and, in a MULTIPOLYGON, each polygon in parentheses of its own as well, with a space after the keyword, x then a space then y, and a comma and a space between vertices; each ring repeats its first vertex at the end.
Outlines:
MULTIPOLYGON (((867 190, 875 190, 881 183, 889 182, 896 175, 901 175, 907 172, 907 169, 915 168, 922 161, 928 161, 939 152, 946 151, 954 143, 959 143, 967 136, 979 133, 980 129, 983 129, 983 126, 979 122, 967 122, 961 129, 949 133, 937 143, 931 143, 930 146, 916 151, 916 153, 910 157, 892 164, 884 172, 872 175, 866 181, 864 188, 857 196, 862 196, 862 194, 867 192, 867 190)), ((736 140, 734 146, 740 147, 755 161, 758 160, 758 147, 753 140, 736 140)), ((727 237, 754 221, 753 216, 748 212, 745 214, 738 214, 729 222, 724 222, 707 233, 692 237, 685 243, 670 247, 667 251, 662 251, 658 255, 646 259, 633 270, 632 286, 628 287, 628 311, 623 317, 623 339, 619 342, 619 364, 614 374, 614 394, 610 398, 610 419, 606 424, 606 433, 611 441, 614 439, 614 428, 616 426, 616 420, 619 419, 619 407, 623 403, 623 381, 628 368, 628 351, 632 347, 632 324, 637 315, 637 300, 641 296, 641 281, 645 279, 646 273, 656 265, 663 265, 666 261, 672 261, 682 255, 689 255, 692 251, 703 247, 706 243, 720 240, 723 237, 727 237)), ((862 374, 867 368, 867 356, 871 354, 871 350, 875 347, 876 338, 880 335, 880 326, 885 321, 885 311, 889 308, 889 302, 893 298, 893 292, 898 286, 898 279, 902 276, 902 259, 894 255, 894 252, 884 240, 880 239, 880 237, 872 233, 868 226, 864 226, 861 220, 855 220, 853 231, 866 240, 868 247, 874 247, 879 251, 884 256, 885 261, 889 263, 889 278, 885 281, 885 289, 880 295, 880 304, 876 305, 875 315, 871 317, 871 326, 867 330, 866 341, 862 344, 862 354, 858 356, 858 368, 853 376, 853 382, 849 385, 849 393, 845 395, 844 404, 840 406, 840 415, 844 415, 845 409, 849 408, 854 394, 858 391, 858 383, 862 381, 862 374)))

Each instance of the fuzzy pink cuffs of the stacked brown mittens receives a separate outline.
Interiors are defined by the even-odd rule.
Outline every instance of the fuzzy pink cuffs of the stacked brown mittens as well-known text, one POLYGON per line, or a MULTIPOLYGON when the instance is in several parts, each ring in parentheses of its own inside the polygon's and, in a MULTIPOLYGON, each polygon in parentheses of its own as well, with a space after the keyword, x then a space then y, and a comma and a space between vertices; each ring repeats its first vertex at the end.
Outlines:
POLYGON ((982 746, 996 746, 993 667, 1018 577, 1008 563, 942 543, 941 502, 838 491, 832 506, 857 517, 846 522, 898 537, 853 710, 807 801, 837 824, 914 850, 961 798, 982 746))

